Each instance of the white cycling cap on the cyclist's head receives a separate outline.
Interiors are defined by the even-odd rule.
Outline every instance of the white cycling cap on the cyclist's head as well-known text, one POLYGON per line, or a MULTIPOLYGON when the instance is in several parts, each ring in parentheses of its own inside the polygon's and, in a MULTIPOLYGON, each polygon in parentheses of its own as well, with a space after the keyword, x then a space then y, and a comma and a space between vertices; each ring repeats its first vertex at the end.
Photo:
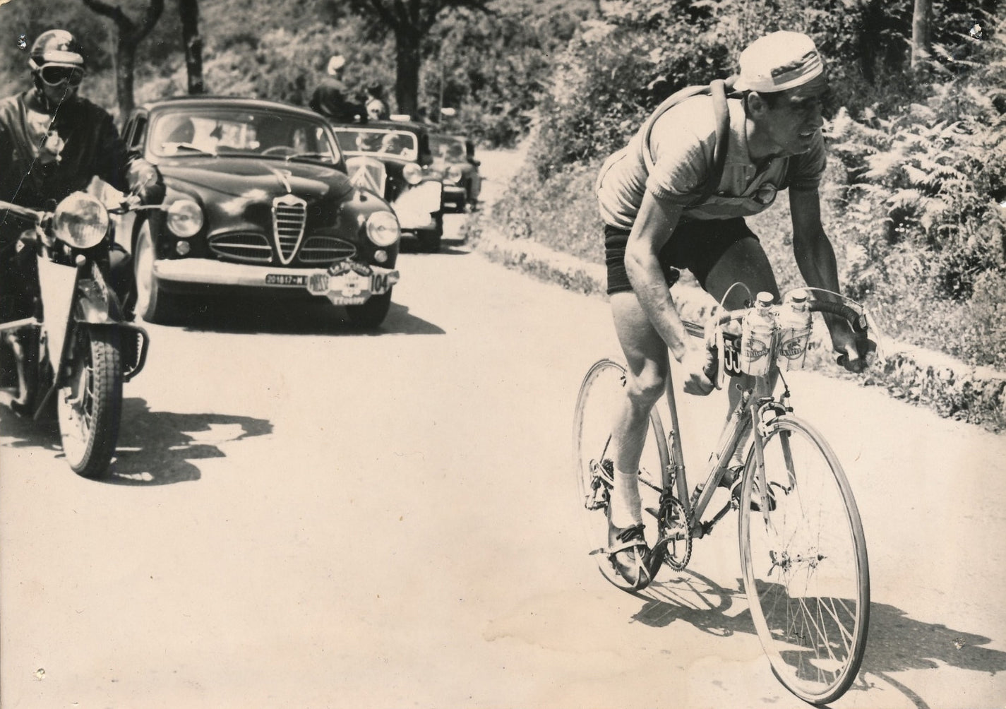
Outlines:
POLYGON ((800 32, 773 32, 740 52, 738 91, 785 92, 824 73, 824 61, 814 40, 800 32))

